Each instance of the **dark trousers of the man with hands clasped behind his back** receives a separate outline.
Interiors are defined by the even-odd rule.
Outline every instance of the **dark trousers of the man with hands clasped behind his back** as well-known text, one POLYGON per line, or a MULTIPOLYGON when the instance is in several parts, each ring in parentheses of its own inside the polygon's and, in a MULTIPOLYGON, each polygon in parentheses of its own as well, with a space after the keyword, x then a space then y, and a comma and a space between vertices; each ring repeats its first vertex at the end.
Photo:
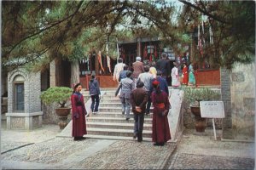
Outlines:
POLYGON ((137 134, 137 139, 143 139, 143 124, 144 124, 145 113, 133 113, 134 117, 134 133, 137 134))

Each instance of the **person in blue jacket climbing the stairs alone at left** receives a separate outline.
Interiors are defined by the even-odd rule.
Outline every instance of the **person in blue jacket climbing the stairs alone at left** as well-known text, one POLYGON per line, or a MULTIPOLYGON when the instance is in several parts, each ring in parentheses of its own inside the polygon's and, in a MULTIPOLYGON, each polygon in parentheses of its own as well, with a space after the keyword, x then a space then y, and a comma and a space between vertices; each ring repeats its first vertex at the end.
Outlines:
POLYGON ((100 87, 99 82, 96 80, 95 75, 91 75, 91 79, 89 82, 89 92, 90 92, 90 99, 91 99, 91 105, 90 110, 93 114, 98 113, 98 107, 100 105, 100 87))

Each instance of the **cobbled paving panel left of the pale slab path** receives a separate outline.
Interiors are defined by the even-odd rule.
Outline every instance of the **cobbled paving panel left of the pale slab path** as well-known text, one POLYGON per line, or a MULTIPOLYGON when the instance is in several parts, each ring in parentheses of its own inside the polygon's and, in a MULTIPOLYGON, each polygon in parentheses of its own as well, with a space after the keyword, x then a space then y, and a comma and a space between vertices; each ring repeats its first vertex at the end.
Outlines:
POLYGON ((93 139, 73 141, 70 138, 55 138, 43 143, 28 145, 19 150, 9 151, 2 155, 2 161, 12 160, 55 164, 95 142, 96 140, 93 139))

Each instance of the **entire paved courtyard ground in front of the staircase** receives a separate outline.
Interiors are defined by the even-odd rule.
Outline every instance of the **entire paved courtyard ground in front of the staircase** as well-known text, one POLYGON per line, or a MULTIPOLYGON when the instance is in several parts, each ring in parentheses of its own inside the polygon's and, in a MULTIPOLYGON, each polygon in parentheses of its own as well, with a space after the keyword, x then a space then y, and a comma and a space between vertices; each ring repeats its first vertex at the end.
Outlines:
MULTIPOLYGON (((55 137, 56 125, 34 131, 1 129, 3 169, 254 169, 252 142, 214 140, 185 129, 182 139, 163 147, 133 140, 55 137)), ((220 134, 220 131, 217 133, 220 134)))

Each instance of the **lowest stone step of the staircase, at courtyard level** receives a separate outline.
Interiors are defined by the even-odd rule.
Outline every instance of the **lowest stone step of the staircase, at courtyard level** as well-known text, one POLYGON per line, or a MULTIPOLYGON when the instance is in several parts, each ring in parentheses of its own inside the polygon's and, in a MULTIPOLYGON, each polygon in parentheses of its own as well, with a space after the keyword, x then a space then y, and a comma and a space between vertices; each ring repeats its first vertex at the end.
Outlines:
MULTIPOLYGON (((132 136, 126 137, 126 136, 85 134, 84 137, 89 138, 89 139, 133 140, 132 136)), ((143 136, 143 141, 152 142, 152 138, 146 138, 143 136)))

